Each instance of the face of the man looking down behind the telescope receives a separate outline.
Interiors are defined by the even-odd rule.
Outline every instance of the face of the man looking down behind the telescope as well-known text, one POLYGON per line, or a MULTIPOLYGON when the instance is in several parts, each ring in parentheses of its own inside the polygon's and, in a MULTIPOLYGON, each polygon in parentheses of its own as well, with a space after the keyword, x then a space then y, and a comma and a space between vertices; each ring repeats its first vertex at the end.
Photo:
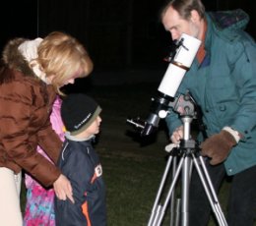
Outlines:
POLYGON ((182 33, 199 38, 200 27, 198 19, 194 18, 194 16, 194 14, 191 14, 191 18, 188 21, 184 20, 177 11, 169 7, 161 22, 165 30, 170 32, 172 40, 179 39, 182 33))

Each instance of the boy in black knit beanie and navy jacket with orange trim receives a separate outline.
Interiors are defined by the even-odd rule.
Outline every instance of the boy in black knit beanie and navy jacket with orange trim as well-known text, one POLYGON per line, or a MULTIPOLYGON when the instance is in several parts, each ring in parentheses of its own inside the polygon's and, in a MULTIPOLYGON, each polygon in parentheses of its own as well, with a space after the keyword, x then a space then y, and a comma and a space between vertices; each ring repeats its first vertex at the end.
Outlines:
POLYGON ((71 182, 75 203, 55 198, 57 226, 106 225, 102 169, 92 145, 99 133, 100 111, 86 94, 73 93, 63 99, 61 117, 66 133, 58 167, 71 182))

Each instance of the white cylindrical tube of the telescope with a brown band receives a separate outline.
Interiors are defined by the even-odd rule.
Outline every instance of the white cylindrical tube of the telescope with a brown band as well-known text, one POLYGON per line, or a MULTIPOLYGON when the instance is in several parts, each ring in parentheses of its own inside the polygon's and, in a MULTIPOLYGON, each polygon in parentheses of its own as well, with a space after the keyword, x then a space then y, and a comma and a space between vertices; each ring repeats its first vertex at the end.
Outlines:
POLYGON ((185 33, 181 35, 179 41, 181 39, 183 39, 182 45, 176 50, 176 54, 169 63, 158 89, 163 94, 171 97, 175 96, 201 44, 201 40, 185 33))

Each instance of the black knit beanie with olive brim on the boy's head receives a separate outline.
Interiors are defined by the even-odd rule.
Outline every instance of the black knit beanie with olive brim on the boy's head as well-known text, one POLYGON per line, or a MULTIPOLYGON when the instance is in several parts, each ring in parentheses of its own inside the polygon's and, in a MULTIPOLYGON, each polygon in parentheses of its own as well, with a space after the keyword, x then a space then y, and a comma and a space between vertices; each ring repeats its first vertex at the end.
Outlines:
POLYGON ((96 101, 84 93, 72 93, 63 99, 61 117, 72 136, 85 131, 96 119, 101 108, 96 101))

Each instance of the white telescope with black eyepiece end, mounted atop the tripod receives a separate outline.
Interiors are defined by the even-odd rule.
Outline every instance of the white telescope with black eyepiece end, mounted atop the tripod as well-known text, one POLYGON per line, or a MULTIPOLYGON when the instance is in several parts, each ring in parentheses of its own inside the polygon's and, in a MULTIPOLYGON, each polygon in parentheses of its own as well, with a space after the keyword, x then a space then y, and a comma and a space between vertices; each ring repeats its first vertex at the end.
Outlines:
POLYGON ((127 123, 141 130, 141 136, 149 136, 158 130, 160 119, 169 114, 173 108, 180 114, 194 111, 193 98, 186 93, 175 97, 176 91, 186 72, 190 69, 201 41, 186 33, 182 33, 178 40, 173 42, 170 54, 165 58, 169 65, 158 88, 159 95, 152 98, 151 113, 144 122, 139 117, 127 119, 127 123))

